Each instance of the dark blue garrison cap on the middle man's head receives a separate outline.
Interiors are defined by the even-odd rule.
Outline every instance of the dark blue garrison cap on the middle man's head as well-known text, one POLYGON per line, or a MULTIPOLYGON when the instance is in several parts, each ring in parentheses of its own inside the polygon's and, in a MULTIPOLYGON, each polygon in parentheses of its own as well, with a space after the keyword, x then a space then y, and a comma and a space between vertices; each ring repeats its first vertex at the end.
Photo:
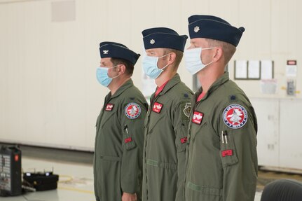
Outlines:
POLYGON ((170 48, 184 52, 188 36, 179 36, 173 29, 156 27, 142 31, 145 50, 152 48, 170 48))

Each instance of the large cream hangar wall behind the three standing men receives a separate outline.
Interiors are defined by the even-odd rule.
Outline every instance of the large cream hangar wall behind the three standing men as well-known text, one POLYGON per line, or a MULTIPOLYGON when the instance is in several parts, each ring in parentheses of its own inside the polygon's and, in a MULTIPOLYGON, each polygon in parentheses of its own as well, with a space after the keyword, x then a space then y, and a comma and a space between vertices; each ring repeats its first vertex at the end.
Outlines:
MULTIPOLYGON (((238 81, 249 97, 287 98, 286 60, 298 66, 302 60, 300 0, 75 0, 76 20, 69 22, 52 22, 52 2, 59 1, 0 1, 0 141, 92 150, 108 92, 95 80, 99 42, 124 43, 140 53, 143 29, 188 34, 193 14, 246 28, 235 60, 274 60, 277 94, 262 95, 259 81, 238 81)), ((133 76, 139 88, 141 63, 133 76)), ((233 60, 229 71, 233 78, 233 60)), ((192 87, 184 66, 179 74, 192 87)), ((298 69, 297 90, 301 79, 298 69)))

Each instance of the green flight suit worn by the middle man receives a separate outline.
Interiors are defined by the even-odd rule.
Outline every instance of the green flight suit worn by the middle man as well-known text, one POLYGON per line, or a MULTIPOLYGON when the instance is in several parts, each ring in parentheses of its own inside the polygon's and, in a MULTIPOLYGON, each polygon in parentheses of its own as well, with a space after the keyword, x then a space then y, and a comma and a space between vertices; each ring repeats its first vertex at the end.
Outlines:
POLYGON ((155 97, 145 119, 143 200, 183 201, 186 137, 193 92, 176 74, 155 97))

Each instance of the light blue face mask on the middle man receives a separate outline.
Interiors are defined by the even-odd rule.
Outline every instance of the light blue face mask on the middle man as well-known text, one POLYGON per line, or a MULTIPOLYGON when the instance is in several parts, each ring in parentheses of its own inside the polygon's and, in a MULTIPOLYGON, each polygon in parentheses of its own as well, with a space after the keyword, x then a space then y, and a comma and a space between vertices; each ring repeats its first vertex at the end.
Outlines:
MULTIPOLYGON (((169 55, 169 54, 167 54, 167 55, 169 55)), ((165 57, 167 55, 163 55, 161 57, 165 57)), ((158 76, 160 76, 160 74, 163 72, 163 70, 169 65, 169 64, 167 64, 162 69, 158 69, 157 62, 158 62, 158 59, 161 57, 150 57, 147 55, 144 56, 143 69, 144 69, 145 74, 147 76, 149 76, 150 78, 153 78, 153 79, 158 78, 158 76)))

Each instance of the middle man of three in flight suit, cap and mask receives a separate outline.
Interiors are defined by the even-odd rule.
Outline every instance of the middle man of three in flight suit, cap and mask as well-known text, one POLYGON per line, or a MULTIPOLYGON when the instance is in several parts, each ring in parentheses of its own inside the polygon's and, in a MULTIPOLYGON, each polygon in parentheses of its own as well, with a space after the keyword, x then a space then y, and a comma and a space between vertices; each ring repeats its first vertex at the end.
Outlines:
POLYGON ((144 201, 183 201, 184 167, 190 99, 193 92, 181 82, 177 69, 188 36, 157 27, 142 32, 146 56, 143 68, 158 88, 145 120, 144 201))

